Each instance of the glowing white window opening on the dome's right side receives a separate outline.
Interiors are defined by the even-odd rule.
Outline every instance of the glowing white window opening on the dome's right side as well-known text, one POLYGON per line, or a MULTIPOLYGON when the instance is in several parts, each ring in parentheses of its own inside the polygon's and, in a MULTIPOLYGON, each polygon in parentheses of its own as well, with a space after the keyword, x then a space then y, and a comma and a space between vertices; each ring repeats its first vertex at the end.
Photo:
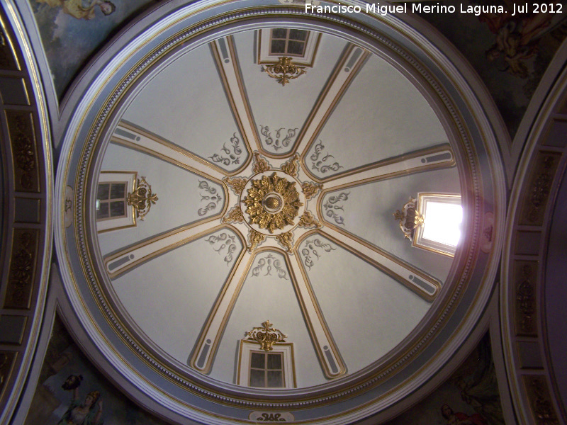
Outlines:
POLYGON ((456 246, 461 237, 463 208, 454 203, 429 201, 423 213, 423 239, 456 246))

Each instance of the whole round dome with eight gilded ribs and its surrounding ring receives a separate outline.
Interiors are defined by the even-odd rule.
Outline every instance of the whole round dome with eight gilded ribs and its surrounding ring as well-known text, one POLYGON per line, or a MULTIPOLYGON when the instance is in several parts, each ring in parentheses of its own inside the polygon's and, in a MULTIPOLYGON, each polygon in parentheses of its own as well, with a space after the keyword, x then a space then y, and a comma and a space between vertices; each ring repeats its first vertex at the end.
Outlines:
POLYGON ((64 283, 134 397, 172 417, 354 421, 436 373, 483 310, 493 140, 401 21, 240 6, 147 16, 99 62, 57 174, 64 283), (461 205, 456 248, 427 239, 427 202, 461 205))

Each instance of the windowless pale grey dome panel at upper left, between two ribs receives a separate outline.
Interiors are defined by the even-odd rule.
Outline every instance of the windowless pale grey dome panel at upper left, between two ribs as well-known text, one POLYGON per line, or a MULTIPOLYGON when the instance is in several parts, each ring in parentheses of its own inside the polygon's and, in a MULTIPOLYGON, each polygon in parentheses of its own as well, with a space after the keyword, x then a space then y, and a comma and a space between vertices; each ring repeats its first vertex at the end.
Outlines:
POLYGON ((202 45, 149 81, 123 119, 230 174, 246 164, 249 149, 227 96, 210 47, 202 45))

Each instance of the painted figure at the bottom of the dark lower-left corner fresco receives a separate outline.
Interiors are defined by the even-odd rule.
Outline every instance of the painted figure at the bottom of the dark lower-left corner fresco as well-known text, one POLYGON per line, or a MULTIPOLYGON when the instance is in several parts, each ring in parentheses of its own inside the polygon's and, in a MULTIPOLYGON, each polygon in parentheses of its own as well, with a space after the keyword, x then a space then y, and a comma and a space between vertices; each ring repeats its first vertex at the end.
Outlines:
POLYGON ((79 401, 79 385, 82 375, 70 375, 61 386, 63 390, 72 391, 73 399, 67 412, 57 425, 102 425, 102 399, 98 391, 89 392, 83 402, 79 401))

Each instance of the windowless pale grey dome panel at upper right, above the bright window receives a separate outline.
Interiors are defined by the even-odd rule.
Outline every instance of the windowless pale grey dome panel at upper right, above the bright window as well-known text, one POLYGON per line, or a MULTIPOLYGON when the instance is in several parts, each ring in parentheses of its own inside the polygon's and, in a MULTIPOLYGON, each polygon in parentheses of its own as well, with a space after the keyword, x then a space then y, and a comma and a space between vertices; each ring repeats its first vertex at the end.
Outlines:
POLYGON ((317 179, 448 142, 437 115, 391 64, 371 55, 304 158, 317 179), (344 149, 354 146, 357 149, 344 149))

